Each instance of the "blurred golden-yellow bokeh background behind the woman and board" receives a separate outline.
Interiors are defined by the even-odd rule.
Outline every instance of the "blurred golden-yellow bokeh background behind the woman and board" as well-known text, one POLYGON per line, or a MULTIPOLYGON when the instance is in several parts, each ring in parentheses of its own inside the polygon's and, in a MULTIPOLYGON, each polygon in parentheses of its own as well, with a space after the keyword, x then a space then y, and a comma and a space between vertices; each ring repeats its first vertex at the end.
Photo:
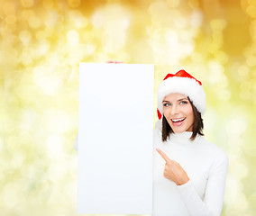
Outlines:
POLYGON ((2 216, 77 215, 79 62, 110 59, 155 65, 155 109, 167 73, 202 81, 206 139, 230 163, 222 215, 256 215, 255 0, 0 5, 2 216))

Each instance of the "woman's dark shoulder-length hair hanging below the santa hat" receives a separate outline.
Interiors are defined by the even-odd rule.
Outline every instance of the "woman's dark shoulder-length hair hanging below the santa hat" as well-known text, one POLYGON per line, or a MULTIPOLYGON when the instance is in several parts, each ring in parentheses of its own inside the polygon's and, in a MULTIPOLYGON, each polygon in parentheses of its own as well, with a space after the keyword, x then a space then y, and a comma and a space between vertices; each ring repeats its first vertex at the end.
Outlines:
MULTIPOLYGON (((189 97, 187 97, 188 101, 191 103, 193 113, 194 113, 194 122, 193 122, 193 133, 190 137, 191 140, 194 140, 197 137, 197 134, 204 136, 203 129, 204 129, 204 123, 203 119, 201 117, 201 112, 197 111, 196 106, 190 101, 189 97)), ((162 115, 162 135, 161 139, 162 141, 166 141, 167 138, 169 138, 169 134, 174 133, 171 127, 169 126, 169 122, 166 120, 164 115, 162 115)))

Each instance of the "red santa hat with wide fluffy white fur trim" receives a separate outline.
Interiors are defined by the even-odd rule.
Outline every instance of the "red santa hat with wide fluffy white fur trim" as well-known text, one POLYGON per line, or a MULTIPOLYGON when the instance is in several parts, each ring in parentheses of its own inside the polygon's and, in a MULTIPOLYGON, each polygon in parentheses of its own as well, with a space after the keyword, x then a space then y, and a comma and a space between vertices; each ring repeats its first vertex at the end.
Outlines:
POLYGON ((158 117, 163 114, 162 101, 171 93, 185 94, 202 114, 206 111, 206 94, 202 83, 189 75, 185 70, 179 70, 175 75, 168 74, 163 79, 158 89, 158 117))

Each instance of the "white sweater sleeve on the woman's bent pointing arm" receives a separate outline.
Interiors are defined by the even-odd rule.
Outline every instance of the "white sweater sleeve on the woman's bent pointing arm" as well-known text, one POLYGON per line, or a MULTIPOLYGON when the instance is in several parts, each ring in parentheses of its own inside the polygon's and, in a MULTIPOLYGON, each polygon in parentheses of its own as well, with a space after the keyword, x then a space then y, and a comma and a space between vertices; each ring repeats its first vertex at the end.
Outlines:
POLYGON ((224 201, 224 187, 228 171, 228 157, 221 151, 215 158, 207 179, 205 198, 198 195, 193 183, 178 185, 178 191, 191 216, 220 216, 224 201))

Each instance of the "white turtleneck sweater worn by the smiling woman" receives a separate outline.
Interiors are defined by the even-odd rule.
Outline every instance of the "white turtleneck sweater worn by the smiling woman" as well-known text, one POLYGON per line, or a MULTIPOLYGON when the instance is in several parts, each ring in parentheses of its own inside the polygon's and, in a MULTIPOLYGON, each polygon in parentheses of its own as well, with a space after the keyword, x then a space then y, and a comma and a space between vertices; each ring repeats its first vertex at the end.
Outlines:
MULTIPOLYGON (((192 132, 171 134, 161 141, 161 121, 156 122, 153 148, 153 213, 152 216, 220 216, 228 157, 221 148, 192 132), (163 176, 165 161, 155 148, 186 171, 189 181, 177 185, 163 176)), ((74 148, 78 150, 78 136, 74 148)))

